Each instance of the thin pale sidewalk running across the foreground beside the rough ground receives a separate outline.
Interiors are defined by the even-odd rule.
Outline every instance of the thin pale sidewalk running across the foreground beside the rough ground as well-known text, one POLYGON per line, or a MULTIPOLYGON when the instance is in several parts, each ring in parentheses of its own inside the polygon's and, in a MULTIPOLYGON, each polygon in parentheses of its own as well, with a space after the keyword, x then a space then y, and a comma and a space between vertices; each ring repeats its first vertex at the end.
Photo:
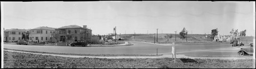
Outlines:
MULTIPOLYGON (((12 50, 4 50, 10 52, 20 52, 20 53, 31 53, 31 52, 22 52, 22 51, 12 51, 12 50)), ((31 54, 41 54, 41 55, 52 55, 52 56, 62 56, 62 57, 73 57, 73 58, 172 58, 172 54, 163 54, 162 56, 77 56, 77 55, 56 55, 56 54, 42 54, 42 53, 31 53, 31 54)), ((190 57, 185 55, 176 55, 176 58, 200 58, 200 59, 252 59, 252 57, 190 57)))

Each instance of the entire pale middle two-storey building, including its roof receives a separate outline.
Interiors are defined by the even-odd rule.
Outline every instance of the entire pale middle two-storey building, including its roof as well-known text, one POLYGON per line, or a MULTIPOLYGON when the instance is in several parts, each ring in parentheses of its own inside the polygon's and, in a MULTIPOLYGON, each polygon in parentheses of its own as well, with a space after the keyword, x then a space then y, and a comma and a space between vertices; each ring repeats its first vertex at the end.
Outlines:
POLYGON ((29 42, 52 42, 55 28, 40 26, 29 30, 29 42))

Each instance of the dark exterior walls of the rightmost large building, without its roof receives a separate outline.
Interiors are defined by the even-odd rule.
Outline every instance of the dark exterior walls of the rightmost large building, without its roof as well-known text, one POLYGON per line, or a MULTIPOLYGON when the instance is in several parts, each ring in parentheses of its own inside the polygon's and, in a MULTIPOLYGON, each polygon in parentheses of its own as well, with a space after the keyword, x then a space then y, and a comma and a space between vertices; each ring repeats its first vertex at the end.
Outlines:
POLYGON ((75 40, 80 41, 86 41, 91 42, 91 31, 88 31, 89 33, 86 33, 88 29, 84 28, 64 28, 64 29, 56 29, 56 33, 54 34, 54 38, 57 40, 57 42, 60 42, 61 36, 65 37, 65 41, 63 42, 73 42, 75 40), (69 33, 70 30, 70 33, 69 33), (77 39, 76 39, 77 37, 77 39), (69 41, 67 41, 67 39, 69 41))

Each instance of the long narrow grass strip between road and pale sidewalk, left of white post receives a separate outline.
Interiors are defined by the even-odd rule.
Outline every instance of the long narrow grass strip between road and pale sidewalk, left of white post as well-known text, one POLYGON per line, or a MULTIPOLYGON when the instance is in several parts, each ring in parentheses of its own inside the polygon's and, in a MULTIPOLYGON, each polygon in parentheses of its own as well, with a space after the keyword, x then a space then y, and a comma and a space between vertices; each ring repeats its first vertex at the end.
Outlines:
POLYGON ((144 55, 144 54, 73 54, 73 53, 53 53, 53 52, 38 52, 38 51, 26 51, 26 50, 16 50, 16 49, 7 49, 4 50, 13 50, 13 51, 22 51, 22 52, 31 52, 31 53, 43 53, 43 54, 56 54, 56 55, 78 55, 78 56, 162 56, 159 55, 144 55))

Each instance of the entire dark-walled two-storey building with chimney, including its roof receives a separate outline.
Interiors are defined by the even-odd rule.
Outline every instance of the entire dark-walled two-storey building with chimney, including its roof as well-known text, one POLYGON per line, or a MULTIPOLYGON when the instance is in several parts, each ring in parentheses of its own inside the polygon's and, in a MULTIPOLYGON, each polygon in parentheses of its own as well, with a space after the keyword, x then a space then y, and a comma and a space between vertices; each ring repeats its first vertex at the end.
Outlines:
POLYGON ((87 28, 87 25, 80 27, 78 25, 68 25, 55 29, 54 39, 57 42, 74 42, 74 41, 92 41, 92 30, 87 28))

